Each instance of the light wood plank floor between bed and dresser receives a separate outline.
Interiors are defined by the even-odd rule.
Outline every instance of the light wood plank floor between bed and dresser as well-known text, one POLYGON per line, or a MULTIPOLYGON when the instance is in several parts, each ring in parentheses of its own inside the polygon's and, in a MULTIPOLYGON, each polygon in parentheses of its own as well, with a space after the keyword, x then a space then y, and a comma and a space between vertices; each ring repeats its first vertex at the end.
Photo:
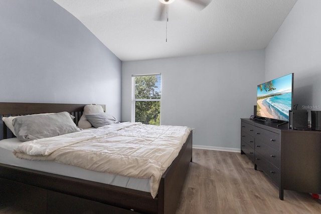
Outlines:
POLYGON ((321 200, 308 193, 278 196, 278 187, 245 154, 193 149, 177 214, 321 213, 321 200))

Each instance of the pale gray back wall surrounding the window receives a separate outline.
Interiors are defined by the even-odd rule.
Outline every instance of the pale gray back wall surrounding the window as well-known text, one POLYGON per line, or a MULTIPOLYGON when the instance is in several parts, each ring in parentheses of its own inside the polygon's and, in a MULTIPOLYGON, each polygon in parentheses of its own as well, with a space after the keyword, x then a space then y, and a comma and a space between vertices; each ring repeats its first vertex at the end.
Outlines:
POLYGON ((161 123, 194 127, 193 144, 240 149, 240 118, 253 114, 264 50, 123 62, 122 120, 130 121, 131 75, 162 73, 161 123))

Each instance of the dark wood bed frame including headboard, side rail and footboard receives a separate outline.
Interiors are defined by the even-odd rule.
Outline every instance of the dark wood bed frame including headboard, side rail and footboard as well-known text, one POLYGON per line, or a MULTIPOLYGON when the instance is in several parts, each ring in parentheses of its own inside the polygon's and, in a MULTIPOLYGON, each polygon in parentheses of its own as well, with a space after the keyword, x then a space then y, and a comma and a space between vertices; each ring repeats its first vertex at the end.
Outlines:
MULTIPOLYGON (((85 104, 1 103, 0 118, 67 111, 78 123, 85 104)), ((2 120, 0 120, 2 123, 2 120)), ((4 138, 12 137, 3 123, 4 138)), ((33 213, 175 213, 192 161, 192 132, 165 171, 158 194, 0 163, 0 207, 33 213)))

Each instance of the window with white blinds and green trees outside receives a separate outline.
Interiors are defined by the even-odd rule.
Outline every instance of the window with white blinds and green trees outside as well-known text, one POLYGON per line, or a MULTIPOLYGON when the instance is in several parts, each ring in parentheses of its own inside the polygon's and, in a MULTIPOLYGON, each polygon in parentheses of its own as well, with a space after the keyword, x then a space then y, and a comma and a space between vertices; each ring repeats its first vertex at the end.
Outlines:
POLYGON ((161 81, 161 74, 132 75, 132 122, 161 124, 161 81))

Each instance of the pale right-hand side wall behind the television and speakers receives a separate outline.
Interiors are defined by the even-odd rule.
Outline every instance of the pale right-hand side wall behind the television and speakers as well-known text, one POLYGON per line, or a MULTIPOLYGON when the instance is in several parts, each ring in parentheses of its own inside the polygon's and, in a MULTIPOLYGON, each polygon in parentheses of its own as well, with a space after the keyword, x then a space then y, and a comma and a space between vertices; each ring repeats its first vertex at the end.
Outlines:
POLYGON ((294 73, 297 109, 321 111, 321 1, 298 0, 266 48, 265 80, 294 73))

